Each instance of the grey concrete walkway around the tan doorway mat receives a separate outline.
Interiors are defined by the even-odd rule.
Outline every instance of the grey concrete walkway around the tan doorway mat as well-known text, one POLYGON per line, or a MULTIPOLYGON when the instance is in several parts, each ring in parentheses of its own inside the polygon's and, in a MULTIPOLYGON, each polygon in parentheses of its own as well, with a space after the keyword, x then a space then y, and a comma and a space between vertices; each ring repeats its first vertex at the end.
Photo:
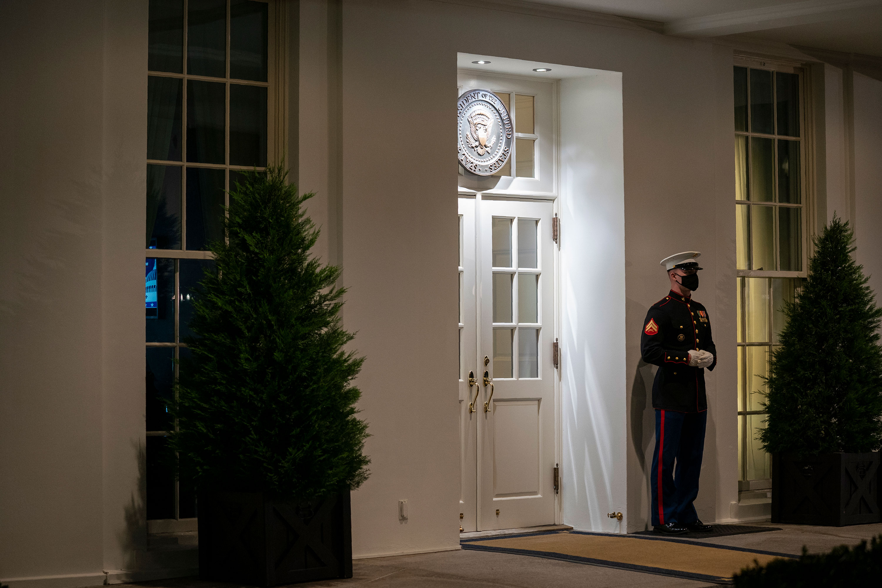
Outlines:
MULTIPOLYGON (((776 526, 781 527, 782 530, 716 537, 703 540, 703 542, 798 555, 802 552, 803 546, 808 547, 812 553, 820 553, 842 544, 856 545, 861 540, 869 540, 882 533, 882 525, 856 525, 838 528, 772 525, 771 523, 753 523, 752 525, 776 526)), ((182 578, 140 585, 151 588, 226 588, 233 584, 182 578)), ((591 586, 592 588, 658 586, 673 588, 683 586, 685 588, 709 584, 624 569, 559 562, 527 555, 458 550, 355 560, 354 577, 351 579, 295 585, 303 586, 303 588, 336 586, 364 586, 365 588, 560 588, 560 586, 591 586)))

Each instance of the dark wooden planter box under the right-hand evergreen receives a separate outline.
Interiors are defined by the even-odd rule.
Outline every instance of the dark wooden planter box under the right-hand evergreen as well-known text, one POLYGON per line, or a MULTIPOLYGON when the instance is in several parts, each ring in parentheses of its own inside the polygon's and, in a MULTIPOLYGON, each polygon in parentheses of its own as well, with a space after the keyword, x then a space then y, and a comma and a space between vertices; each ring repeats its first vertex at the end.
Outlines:
POLYGON ((878 523, 879 454, 772 456, 772 522, 802 525, 878 523))

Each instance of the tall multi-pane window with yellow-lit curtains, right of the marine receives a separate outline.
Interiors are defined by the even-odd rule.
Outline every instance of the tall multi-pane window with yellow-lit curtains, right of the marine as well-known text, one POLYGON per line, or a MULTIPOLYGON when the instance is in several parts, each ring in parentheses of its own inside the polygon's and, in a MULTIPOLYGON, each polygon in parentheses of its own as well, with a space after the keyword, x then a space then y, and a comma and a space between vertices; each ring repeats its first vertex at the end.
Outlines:
MULTIPOLYGON (((734 68, 738 356, 738 467, 741 491, 767 491, 771 458, 762 450, 769 353, 784 326, 783 302, 805 276, 804 122, 801 72, 734 68)), ((765 64, 764 64, 765 65, 765 64)))

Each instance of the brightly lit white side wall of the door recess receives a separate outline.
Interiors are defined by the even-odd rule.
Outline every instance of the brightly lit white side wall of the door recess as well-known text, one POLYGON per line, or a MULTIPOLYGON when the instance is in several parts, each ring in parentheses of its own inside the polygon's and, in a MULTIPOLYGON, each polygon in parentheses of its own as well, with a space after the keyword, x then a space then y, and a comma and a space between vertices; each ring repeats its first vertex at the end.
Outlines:
POLYGON ((606 516, 628 512, 622 76, 566 78, 560 102, 561 514, 624 532, 606 516))

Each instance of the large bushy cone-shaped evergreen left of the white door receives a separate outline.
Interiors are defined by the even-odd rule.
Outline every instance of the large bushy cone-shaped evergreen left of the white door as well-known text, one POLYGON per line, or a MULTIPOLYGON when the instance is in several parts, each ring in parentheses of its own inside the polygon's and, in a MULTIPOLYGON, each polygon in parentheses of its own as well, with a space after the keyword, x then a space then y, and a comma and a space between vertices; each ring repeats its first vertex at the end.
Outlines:
POLYGON ((198 488, 313 499, 360 486, 367 424, 344 346, 340 268, 310 254, 318 228, 287 172, 250 172, 229 192, 227 242, 211 244, 181 361, 170 449, 198 488))

